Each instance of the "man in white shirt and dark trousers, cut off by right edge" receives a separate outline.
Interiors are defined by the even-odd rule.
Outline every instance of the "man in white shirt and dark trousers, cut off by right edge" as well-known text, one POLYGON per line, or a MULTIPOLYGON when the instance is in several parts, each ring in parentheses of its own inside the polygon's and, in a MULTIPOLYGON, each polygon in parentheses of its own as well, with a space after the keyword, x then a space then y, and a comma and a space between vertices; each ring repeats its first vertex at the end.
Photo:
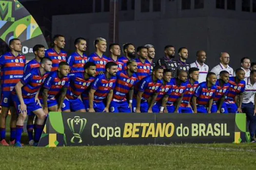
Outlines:
POLYGON ((256 133, 256 70, 252 70, 250 77, 245 78, 244 81, 246 85, 243 92, 242 111, 246 114, 251 141, 256 142, 253 139, 256 133))

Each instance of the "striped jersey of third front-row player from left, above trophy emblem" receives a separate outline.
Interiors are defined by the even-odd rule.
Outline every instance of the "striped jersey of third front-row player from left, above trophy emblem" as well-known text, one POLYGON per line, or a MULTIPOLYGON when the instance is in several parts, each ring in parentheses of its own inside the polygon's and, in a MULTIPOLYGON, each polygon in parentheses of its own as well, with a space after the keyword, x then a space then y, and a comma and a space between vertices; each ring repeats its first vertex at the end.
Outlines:
POLYGON ((74 100, 77 99, 82 93, 85 93, 88 96, 90 85, 95 80, 95 77, 85 79, 83 72, 69 74, 69 77, 70 85, 66 97, 74 100))

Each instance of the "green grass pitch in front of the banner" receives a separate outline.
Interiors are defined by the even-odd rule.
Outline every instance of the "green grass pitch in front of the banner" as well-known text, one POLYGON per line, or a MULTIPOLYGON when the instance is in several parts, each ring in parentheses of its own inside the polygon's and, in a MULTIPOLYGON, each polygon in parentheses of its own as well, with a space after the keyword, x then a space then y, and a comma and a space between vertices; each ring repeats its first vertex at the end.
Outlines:
POLYGON ((253 170, 256 144, 0 147, 0 165, 0 170, 253 170))

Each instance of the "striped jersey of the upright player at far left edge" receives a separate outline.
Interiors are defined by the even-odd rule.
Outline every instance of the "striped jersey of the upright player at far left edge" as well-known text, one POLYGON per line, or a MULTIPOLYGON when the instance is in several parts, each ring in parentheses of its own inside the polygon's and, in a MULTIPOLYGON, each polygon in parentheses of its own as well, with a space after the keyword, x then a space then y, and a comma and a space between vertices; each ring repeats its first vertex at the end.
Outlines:
POLYGON ((24 74, 26 59, 24 55, 15 57, 11 52, 0 56, 1 90, 12 91, 24 74))

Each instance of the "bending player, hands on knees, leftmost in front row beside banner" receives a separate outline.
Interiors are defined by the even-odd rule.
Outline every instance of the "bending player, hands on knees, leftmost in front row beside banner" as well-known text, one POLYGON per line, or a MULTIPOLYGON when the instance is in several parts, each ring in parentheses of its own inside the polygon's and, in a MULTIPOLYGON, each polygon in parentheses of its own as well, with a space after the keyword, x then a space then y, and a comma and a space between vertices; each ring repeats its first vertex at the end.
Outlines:
POLYGON ((23 76, 23 78, 15 85, 12 92, 12 99, 14 101, 17 113, 19 113, 17 126, 15 146, 22 147, 20 140, 23 132, 24 120, 27 115, 35 114, 38 119, 35 127, 35 143, 37 145, 43 131, 43 124, 46 114, 44 113, 38 99, 39 90, 43 85, 47 72, 52 69, 52 60, 49 58, 42 58, 40 67, 33 69, 30 73, 23 76))

